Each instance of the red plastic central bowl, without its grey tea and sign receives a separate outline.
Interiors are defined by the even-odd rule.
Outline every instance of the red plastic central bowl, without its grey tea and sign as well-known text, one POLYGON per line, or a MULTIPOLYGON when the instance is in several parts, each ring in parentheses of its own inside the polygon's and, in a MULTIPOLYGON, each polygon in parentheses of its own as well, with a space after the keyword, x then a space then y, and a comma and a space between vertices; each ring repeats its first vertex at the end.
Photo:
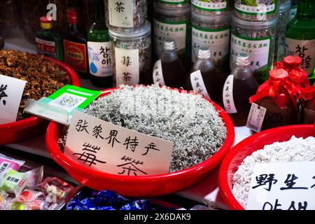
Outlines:
MULTIPOLYGON (((105 90, 101 96, 110 94, 115 89, 117 88, 105 90)), ((68 172, 73 179, 76 179, 76 181, 94 190, 114 190, 121 195, 130 197, 167 195, 193 186, 195 183, 206 178, 211 172, 211 169, 214 169, 214 167, 223 160, 226 153, 230 151, 230 148, 234 144, 235 130, 228 113, 223 111, 217 104, 211 101, 209 102, 214 105, 227 127, 228 133, 225 143, 222 148, 208 160, 179 172, 151 176, 121 176, 94 171, 93 169, 73 162, 73 160, 66 158, 64 154, 62 154, 57 146, 57 139, 59 139, 62 132, 62 125, 57 125, 56 123, 50 123, 48 126, 46 147, 51 157, 60 166, 64 167, 66 172, 68 172)))

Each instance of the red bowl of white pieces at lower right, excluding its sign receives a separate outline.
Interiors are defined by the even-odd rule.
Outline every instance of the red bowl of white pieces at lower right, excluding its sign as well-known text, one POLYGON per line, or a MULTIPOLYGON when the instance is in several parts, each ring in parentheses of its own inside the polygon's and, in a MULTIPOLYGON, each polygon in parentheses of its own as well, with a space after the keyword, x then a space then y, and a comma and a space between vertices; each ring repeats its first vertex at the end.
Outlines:
MULTIPOLYGON (((246 202, 242 199, 237 199, 239 193, 235 195, 236 190, 233 190, 233 188, 235 187, 237 181, 239 183, 242 181, 244 181, 244 183, 248 182, 248 178, 251 175, 252 170, 248 170, 246 174, 241 174, 243 178, 238 176, 237 170, 241 164, 248 164, 248 162, 252 164, 255 163, 255 161, 314 161, 314 137, 314 125, 292 125, 265 130, 248 137, 244 141, 241 141, 239 144, 234 146, 232 151, 230 151, 230 153, 228 153, 228 155, 223 160, 218 179, 221 195, 229 209, 245 209, 245 207, 242 205, 246 205, 246 202), (291 144, 290 139, 292 139, 291 144), (264 147, 265 151, 267 151, 265 153, 260 151, 264 147), (300 152, 302 154, 300 154, 300 152), (281 156, 281 153, 282 155, 283 153, 286 154, 286 156, 281 156), (248 155, 251 155, 251 157, 248 157, 248 155)), ((239 172, 242 172, 242 169, 239 169, 239 172)), ((246 197, 245 189, 241 195, 244 195, 242 197, 246 197)))

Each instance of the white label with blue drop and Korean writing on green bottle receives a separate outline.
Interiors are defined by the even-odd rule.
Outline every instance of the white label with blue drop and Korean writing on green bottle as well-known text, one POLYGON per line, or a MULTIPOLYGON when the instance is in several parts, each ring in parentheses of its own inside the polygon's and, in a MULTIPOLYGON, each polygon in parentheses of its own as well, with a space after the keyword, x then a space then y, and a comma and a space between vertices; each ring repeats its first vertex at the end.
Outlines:
POLYGON ((90 73, 98 77, 111 76, 111 42, 87 42, 90 73))

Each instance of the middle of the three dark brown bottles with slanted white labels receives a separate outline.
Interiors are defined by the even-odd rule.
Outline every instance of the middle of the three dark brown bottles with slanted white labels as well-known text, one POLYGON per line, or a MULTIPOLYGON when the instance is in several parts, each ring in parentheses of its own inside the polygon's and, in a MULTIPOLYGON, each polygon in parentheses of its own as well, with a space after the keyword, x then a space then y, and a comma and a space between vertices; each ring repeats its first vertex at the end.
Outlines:
POLYGON ((223 78, 212 62, 210 48, 202 46, 198 50, 190 76, 186 79, 186 90, 203 94, 223 107, 222 90, 225 82, 223 78))

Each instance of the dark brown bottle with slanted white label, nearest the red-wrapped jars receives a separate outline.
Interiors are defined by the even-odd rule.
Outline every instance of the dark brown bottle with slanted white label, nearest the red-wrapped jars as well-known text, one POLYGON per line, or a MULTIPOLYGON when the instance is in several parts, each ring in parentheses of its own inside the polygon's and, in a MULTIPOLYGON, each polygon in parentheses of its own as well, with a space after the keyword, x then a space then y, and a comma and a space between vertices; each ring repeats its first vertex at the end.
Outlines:
POLYGON ((258 89, 250 64, 249 55, 238 54, 235 59, 235 68, 225 80, 223 87, 224 108, 235 126, 246 125, 251 109, 249 97, 253 96, 258 89))

